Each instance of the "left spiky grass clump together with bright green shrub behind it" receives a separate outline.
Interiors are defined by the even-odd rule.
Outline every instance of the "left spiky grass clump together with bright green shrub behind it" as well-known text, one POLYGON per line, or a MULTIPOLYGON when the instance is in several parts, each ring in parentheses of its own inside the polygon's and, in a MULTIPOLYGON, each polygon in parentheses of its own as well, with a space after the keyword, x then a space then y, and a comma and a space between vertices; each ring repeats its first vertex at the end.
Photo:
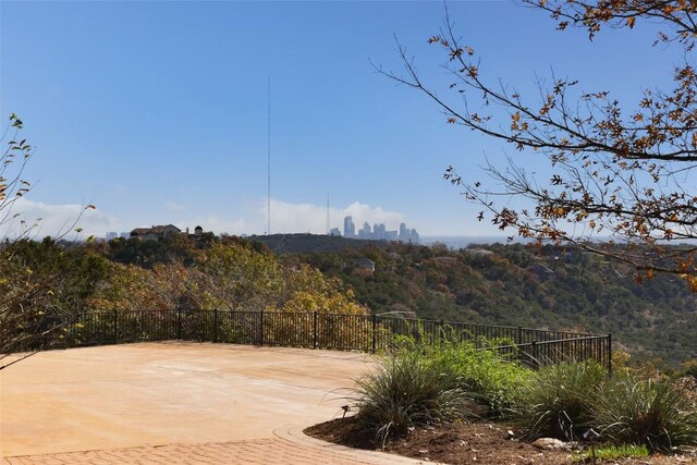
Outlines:
POLYGON ((354 406, 364 431, 384 444, 411 427, 510 413, 530 369, 486 346, 433 343, 417 332, 418 339, 399 336, 392 354, 357 381, 354 406))

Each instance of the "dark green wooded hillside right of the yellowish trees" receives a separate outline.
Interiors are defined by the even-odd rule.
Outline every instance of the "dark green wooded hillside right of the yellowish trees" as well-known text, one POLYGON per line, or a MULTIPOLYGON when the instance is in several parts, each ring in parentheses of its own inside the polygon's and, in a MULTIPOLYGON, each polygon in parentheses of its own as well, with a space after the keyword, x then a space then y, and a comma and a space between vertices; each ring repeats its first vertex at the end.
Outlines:
POLYGON ((579 247, 392 243, 387 249, 288 256, 339 278, 374 313, 425 319, 612 332, 638 359, 697 357, 697 296, 670 274, 638 282, 632 268, 579 247), (375 261, 375 272, 355 262, 375 261))

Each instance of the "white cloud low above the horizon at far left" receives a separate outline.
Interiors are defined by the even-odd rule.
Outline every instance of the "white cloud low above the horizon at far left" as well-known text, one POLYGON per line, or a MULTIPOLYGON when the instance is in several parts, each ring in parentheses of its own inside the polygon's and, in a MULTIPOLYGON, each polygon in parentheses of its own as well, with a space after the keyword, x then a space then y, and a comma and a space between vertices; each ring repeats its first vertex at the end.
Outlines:
MULTIPOLYGON (((5 209, 0 215, 4 217, 9 210, 5 209)), ((66 238, 75 238, 75 228, 84 230, 78 235, 84 237, 103 236, 108 231, 119 231, 117 219, 96 208, 85 209, 84 205, 78 204, 52 205, 19 198, 12 205, 8 221, 0 227, 0 234, 16 236, 27 227, 32 228, 28 233, 30 237, 65 235, 66 238)))

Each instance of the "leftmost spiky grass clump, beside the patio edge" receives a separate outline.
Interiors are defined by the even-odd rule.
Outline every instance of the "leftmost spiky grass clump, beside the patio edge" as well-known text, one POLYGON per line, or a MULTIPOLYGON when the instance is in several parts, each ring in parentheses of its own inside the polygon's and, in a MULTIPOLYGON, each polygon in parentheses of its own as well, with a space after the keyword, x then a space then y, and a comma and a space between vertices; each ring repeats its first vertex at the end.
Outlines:
POLYGON ((356 382, 354 420, 377 444, 406 435, 411 428, 464 419, 472 415, 472 397, 442 365, 417 351, 386 357, 378 368, 356 382))

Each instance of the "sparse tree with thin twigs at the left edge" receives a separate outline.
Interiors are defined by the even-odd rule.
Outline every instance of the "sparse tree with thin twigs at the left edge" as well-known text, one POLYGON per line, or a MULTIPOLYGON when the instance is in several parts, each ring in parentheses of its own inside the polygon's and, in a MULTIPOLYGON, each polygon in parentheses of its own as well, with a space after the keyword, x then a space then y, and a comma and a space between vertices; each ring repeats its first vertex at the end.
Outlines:
MULTIPOLYGON (((66 322, 63 314, 70 308, 57 303, 84 291, 77 280, 64 279, 70 260, 53 240, 47 237, 41 244, 28 241, 40 219, 33 223, 19 219, 16 203, 32 188, 23 173, 34 155, 32 145, 20 137, 23 127, 13 113, 0 136, 0 142, 7 142, 0 155, 0 370, 40 351, 46 336, 66 322), (59 285, 59 279, 65 285, 59 285), (19 352, 22 354, 14 355, 19 352)), ((57 237, 64 236, 78 220, 57 237)), ((85 270, 96 270, 91 265, 85 270)))

